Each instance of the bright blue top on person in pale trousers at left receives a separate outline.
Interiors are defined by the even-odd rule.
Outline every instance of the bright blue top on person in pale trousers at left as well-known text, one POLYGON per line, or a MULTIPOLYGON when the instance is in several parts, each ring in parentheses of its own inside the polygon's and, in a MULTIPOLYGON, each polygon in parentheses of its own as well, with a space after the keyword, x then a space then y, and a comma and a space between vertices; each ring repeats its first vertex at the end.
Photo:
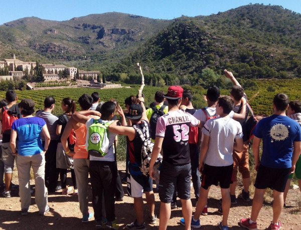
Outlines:
POLYGON ((18 133, 18 154, 35 155, 43 151, 41 131, 46 124, 41 117, 32 116, 15 120, 12 129, 18 133))

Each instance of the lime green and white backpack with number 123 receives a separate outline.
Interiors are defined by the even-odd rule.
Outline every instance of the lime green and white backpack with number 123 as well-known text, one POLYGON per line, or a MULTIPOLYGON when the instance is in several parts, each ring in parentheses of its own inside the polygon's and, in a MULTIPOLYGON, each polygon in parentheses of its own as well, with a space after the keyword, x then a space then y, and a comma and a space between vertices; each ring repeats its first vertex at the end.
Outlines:
POLYGON ((104 122, 102 119, 94 119, 89 126, 88 153, 93 156, 104 156, 109 150, 108 126, 113 121, 104 122))

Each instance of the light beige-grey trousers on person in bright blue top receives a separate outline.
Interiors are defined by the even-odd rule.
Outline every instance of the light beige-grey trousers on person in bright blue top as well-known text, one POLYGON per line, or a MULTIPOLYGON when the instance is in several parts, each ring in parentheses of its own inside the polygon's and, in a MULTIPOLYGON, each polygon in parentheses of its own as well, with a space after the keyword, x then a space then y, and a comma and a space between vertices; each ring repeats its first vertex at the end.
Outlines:
POLYGON ((45 186, 45 153, 35 155, 18 155, 17 168, 19 177, 19 195, 21 208, 28 209, 31 204, 30 167, 35 177, 35 199, 39 211, 44 212, 47 205, 47 188, 45 186))

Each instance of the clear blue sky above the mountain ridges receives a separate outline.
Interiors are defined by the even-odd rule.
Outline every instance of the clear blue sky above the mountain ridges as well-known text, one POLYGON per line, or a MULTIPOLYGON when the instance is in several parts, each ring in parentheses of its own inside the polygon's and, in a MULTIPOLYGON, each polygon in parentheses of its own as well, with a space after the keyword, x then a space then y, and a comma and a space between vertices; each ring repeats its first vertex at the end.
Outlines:
POLYGON ((301 13, 300 0, 14 0, 1 4, 0 24, 28 16, 62 21, 112 11, 173 19, 181 15, 210 15, 249 3, 282 5, 301 13))

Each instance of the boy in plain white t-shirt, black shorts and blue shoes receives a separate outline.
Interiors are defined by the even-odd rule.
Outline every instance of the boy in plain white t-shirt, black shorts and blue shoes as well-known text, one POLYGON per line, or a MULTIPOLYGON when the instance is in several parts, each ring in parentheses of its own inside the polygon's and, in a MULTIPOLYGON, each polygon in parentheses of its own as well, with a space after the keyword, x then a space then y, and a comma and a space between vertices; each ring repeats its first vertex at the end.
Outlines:
MULTIPOLYGON (((223 219, 219 223, 220 229, 228 229, 228 216, 230 211, 231 199, 229 187, 232 182, 233 171, 233 148, 242 150, 242 128, 238 121, 230 118, 234 101, 230 96, 220 96, 216 104, 217 118, 206 121, 202 128, 204 138, 200 151, 199 170, 203 174, 200 188, 200 198, 197 203, 196 211, 191 220, 192 227, 201 227, 200 215, 204 209, 210 186, 212 184, 221 187, 223 219), (234 140, 236 142, 234 142, 234 140)), ((184 224, 184 219, 181 219, 184 224)))

